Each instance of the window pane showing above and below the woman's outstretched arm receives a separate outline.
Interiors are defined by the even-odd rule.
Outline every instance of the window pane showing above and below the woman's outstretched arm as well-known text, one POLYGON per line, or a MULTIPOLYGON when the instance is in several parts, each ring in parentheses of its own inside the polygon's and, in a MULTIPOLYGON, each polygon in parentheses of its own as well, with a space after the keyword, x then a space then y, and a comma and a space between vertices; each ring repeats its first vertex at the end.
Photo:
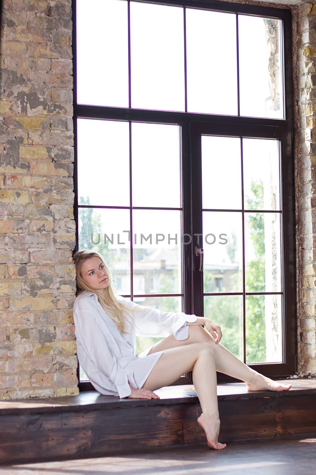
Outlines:
MULTIPOLYGON (((150 305, 164 312, 183 312, 182 297, 135 297, 134 302, 140 305, 150 305)), ((144 352, 153 343, 160 342, 163 338, 136 336, 136 355, 144 352)))

